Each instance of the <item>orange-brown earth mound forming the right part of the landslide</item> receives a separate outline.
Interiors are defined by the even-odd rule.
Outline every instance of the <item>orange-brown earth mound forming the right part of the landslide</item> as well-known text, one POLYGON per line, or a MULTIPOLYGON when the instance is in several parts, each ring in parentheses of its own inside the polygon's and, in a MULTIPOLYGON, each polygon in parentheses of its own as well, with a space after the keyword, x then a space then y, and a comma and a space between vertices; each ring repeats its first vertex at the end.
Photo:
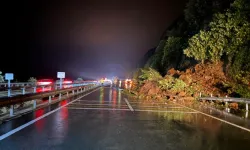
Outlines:
POLYGON ((178 71, 170 69, 168 75, 178 76, 187 86, 191 86, 195 91, 204 95, 224 96, 226 91, 220 87, 227 82, 227 78, 223 72, 223 63, 217 64, 206 63, 197 64, 193 68, 186 71, 178 71))

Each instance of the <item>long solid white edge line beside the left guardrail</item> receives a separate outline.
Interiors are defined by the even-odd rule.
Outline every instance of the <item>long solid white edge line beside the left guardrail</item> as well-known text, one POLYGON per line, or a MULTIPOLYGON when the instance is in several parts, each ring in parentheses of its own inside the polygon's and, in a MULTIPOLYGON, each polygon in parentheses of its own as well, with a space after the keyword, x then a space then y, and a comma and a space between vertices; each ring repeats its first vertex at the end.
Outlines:
POLYGON ((46 114, 44 114, 44 115, 42 115, 42 116, 40 116, 40 117, 34 119, 34 120, 31 120, 30 122, 27 122, 26 124, 23 124, 23 125, 21 125, 21 126, 15 128, 15 129, 13 129, 13 130, 7 132, 7 133, 1 135, 1 136, 0 136, 0 141, 3 140, 3 139, 5 139, 5 138, 7 138, 7 137, 9 137, 9 136, 11 136, 12 134, 14 134, 14 133, 16 133, 16 132, 18 132, 18 131, 20 131, 20 130, 26 128, 27 126, 29 126, 29 125, 35 123, 36 121, 41 120, 42 118, 44 118, 44 117, 46 117, 46 116, 48 116, 48 115, 50 115, 50 114, 52 114, 52 113, 54 113, 54 112, 60 110, 61 108, 63 108, 63 107, 65 107, 65 106, 69 105, 70 103, 73 103, 74 101, 76 101, 76 100, 78 100, 78 99, 81 99, 81 98, 83 98, 84 96, 87 96, 87 95, 89 95, 89 94, 91 94, 91 93, 97 91, 98 89, 99 89, 99 88, 97 88, 97 89, 95 89, 95 90, 93 90, 93 91, 91 91, 91 92, 89 92, 89 93, 87 93, 87 94, 85 94, 85 95, 83 95, 83 96, 81 96, 81 97, 79 97, 79 98, 77 98, 77 99, 75 99, 75 100, 73 100, 73 101, 71 101, 71 102, 69 102, 69 103, 63 105, 63 106, 60 106, 60 107, 58 107, 57 109, 54 109, 54 110, 52 110, 52 111, 50 111, 50 112, 48 112, 48 113, 46 113, 46 114))

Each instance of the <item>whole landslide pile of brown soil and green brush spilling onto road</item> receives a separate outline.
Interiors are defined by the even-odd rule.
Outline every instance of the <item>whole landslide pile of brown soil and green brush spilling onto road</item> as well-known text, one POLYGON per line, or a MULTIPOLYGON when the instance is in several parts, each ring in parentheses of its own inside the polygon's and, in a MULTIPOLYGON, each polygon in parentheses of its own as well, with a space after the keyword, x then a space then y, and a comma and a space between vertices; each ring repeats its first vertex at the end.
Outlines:
POLYGON ((157 71, 149 68, 142 69, 133 87, 136 95, 146 99, 160 100, 162 98, 194 100, 195 97, 225 96, 228 94, 224 85, 228 82, 223 72, 223 63, 197 64, 185 71, 168 70, 162 77, 157 71))

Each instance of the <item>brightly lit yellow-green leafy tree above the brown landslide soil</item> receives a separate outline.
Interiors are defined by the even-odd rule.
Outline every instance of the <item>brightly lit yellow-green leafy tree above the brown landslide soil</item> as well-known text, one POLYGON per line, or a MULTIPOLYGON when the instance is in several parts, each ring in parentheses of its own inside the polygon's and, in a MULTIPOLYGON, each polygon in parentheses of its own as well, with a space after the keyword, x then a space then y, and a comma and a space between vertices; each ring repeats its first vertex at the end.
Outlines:
POLYGON ((247 11, 249 7, 244 1, 236 0, 231 9, 215 14, 209 24, 210 29, 194 35, 184 53, 202 62, 206 59, 217 62, 225 54, 231 63, 239 50, 250 42, 250 23, 247 18, 250 11, 247 11), (242 5, 243 12, 240 11, 242 5))

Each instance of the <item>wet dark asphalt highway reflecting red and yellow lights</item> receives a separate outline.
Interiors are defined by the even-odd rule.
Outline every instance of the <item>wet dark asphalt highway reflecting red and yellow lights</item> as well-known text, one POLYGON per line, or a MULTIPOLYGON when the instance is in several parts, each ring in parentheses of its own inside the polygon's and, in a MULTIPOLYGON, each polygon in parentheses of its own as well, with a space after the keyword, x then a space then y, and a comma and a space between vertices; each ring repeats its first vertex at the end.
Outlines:
POLYGON ((250 133, 174 104, 160 107, 102 87, 0 125, 0 134, 58 111, 0 141, 0 150, 250 149, 250 133), (66 106, 67 105, 67 106, 66 106), (132 110, 132 111, 131 111, 132 110))

